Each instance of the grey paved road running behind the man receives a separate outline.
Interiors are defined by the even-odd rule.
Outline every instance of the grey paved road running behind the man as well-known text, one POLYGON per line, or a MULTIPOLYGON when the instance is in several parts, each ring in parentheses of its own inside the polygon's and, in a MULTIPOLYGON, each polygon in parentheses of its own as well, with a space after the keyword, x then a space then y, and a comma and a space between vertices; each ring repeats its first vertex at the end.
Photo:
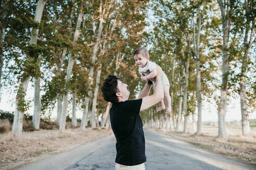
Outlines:
MULTIPOLYGON (((147 170, 256 169, 158 132, 147 129, 144 132, 147 170)), ((19 169, 113 170, 115 144, 111 135, 19 169)))

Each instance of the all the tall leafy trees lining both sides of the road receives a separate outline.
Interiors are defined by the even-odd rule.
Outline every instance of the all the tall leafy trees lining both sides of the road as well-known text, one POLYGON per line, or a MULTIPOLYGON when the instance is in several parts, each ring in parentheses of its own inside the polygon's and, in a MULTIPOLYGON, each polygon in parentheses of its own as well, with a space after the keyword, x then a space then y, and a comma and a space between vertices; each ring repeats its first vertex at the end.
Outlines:
POLYGON ((167 73, 172 100, 171 116, 151 108, 142 113, 145 122, 152 124, 159 117, 167 124, 162 127, 181 131, 184 116, 186 133, 190 114, 196 127, 197 109, 200 135, 202 102, 216 101, 219 137, 226 138, 228 95, 238 93, 242 132, 250 134, 248 114, 256 107, 256 67, 250 55, 255 49, 253 0, 2 0, 0 17, 0 80, 1 87, 16 88, 15 137, 22 133, 23 115, 30 106, 25 100, 30 81, 35 129, 40 128, 40 116, 57 107, 56 122, 64 131, 69 103, 73 126, 79 107, 81 129, 88 119, 96 128, 99 117, 104 127, 111 104, 103 100, 100 84, 107 75, 117 75, 129 83, 130 97, 135 98, 144 83, 132 52, 141 46, 149 47, 150 60, 167 73))

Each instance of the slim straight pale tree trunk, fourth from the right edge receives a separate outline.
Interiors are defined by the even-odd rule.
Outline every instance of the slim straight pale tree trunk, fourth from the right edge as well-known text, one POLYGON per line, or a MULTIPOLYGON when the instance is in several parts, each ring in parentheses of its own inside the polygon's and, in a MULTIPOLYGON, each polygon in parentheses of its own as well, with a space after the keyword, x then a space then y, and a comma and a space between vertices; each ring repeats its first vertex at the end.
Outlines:
POLYGON ((183 115, 184 115, 184 129, 183 132, 187 133, 187 87, 188 87, 188 68, 189 68, 189 59, 187 58, 186 62, 186 76, 185 76, 185 87, 183 92, 183 115))

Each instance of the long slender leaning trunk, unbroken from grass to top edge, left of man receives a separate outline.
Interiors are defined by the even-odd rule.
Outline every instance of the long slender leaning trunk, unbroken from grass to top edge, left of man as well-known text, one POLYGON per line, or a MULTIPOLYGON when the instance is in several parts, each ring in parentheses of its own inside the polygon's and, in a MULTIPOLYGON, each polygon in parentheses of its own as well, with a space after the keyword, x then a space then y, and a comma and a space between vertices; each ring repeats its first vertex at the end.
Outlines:
MULTIPOLYGON (((84 111, 83 111, 83 118, 84 121, 85 121, 85 117, 86 115, 88 115, 88 105, 89 105, 89 98, 90 96, 92 95, 92 90, 91 90, 91 86, 93 84, 93 75, 94 75, 94 64, 95 64, 95 61, 96 61, 96 54, 97 54, 97 51, 98 51, 98 46, 99 46, 99 41, 100 41, 100 37, 101 37, 101 33, 102 33, 102 30, 103 30, 103 23, 104 23, 104 11, 102 11, 102 2, 100 1, 100 5, 99 5, 99 30, 98 30, 98 35, 97 35, 97 39, 96 39, 96 43, 93 47, 93 55, 92 55, 92 61, 91 61, 91 67, 89 69, 89 75, 88 75, 88 93, 87 93, 87 96, 85 97, 85 108, 84 108, 84 111)), ((85 129, 85 124, 84 123, 81 123, 81 129, 85 129)))

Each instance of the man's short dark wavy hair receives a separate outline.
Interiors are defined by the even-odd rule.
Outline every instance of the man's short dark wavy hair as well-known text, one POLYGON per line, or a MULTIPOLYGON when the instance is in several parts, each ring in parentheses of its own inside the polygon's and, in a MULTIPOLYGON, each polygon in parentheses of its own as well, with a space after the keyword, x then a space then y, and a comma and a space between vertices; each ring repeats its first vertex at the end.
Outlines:
POLYGON ((116 93, 118 90, 118 78, 117 76, 108 76, 104 81, 103 86, 101 86, 101 93, 107 102, 118 103, 118 98, 116 93))

